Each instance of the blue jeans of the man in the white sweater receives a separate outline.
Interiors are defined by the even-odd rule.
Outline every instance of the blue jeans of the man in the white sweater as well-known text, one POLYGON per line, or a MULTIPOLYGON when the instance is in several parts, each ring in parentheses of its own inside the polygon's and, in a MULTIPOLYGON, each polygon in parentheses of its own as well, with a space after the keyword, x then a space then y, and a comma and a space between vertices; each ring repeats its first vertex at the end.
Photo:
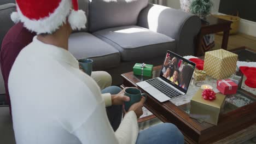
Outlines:
MULTIPOLYGON (((118 94, 120 91, 121 88, 117 86, 110 86, 103 89, 101 93, 118 94)), ((107 107, 106 110, 109 122, 115 131, 118 129, 121 123, 123 106, 113 105, 107 107)), ((148 129, 138 133, 136 144, 143 143, 184 143, 184 136, 174 124, 162 123, 149 127, 148 129)))

